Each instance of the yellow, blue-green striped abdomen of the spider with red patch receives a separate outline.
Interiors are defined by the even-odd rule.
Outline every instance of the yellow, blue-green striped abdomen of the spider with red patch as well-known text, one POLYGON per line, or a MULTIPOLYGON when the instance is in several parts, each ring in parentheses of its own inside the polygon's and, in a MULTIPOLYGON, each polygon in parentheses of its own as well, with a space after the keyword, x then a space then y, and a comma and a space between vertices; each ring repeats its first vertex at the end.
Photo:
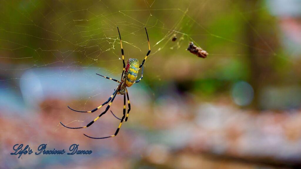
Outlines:
POLYGON ((139 60, 129 59, 125 70, 125 83, 127 87, 130 87, 134 84, 138 76, 138 70, 139 70, 139 60))

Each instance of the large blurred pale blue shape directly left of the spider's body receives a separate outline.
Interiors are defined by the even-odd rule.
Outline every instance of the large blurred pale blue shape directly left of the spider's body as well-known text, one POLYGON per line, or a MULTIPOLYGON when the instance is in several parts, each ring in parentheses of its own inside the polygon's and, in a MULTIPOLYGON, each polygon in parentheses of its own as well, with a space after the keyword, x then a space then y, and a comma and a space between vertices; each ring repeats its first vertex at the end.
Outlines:
POLYGON ((64 71, 58 67, 30 69, 21 76, 20 90, 25 103, 33 106, 46 98, 67 100, 92 97, 95 95, 93 91, 100 88, 105 89, 101 91, 102 95, 110 95, 116 82, 104 81, 106 79, 95 73, 106 75, 97 68, 64 71))

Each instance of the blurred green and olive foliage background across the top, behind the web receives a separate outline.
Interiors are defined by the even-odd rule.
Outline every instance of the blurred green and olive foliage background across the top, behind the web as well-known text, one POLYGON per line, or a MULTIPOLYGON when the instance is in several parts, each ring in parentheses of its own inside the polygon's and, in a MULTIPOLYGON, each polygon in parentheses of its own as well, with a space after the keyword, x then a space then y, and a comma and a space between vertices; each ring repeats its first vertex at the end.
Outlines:
POLYGON ((96 66, 119 76, 122 63, 116 26, 125 42, 126 59, 140 60, 147 52, 146 26, 152 52, 144 82, 150 88, 167 85, 164 81, 184 85, 187 81, 188 91, 214 96, 228 93, 231 84, 244 80, 257 93, 269 84, 285 84, 287 76, 300 76, 290 73, 296 65, 285 56, 277 18, 269 14, 265 1, 210 3, 2 1, 0 52, 19 59, 1 60, 24 70, 96 66), (178 37, 175 42, 170 40, 173 34, 178 37), (206 50, 208 58, 186 51, 189 41, 206 50))

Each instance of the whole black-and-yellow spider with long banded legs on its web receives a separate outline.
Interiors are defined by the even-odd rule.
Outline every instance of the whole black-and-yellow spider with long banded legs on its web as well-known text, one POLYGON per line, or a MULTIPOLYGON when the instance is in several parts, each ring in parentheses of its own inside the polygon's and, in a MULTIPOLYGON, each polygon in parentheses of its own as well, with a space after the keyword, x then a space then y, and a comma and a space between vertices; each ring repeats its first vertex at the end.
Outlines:
MULTIPOLYGON (((115 134, 111 135, 111 136, 108 136, 108 137, 99 137, 99 138, 97 138, 97 137, 90 137, 90 136, 88 136, 86 134, 84 134, 84 135, 86 137, 89 137, 89 138, 92 138, 92 139, 105 139, 105 138, 109 138, 109 137, 115 137, 118 134, 119 129, 121 128, 122 122, 128 120, 129 112, 131 110, 131 104, 130 104, 130 100, 129 100, 129 93, 128 93, 127 87, 131 87, 134 83, 138 83, 143 78, 143 64, 144 64, 145 60, 147 59, 148 55, 151 53, 151 46, 150 46, 150 41, 148 39, 147 30, 146 30, 145 27, 144 27, 144 29, 145 29, 146 36, 147 36, 148 52, 147 52, 146 56, 144 57, 141 65, 139 66, 139 60, 138 59, 132 59, 132 58, 130 58, 128 60, 127 64, 125 64, 121 36, 120 36, 119 28, 117 27, 117 30, 118 30, 118 33, 119 33, 119 38, 120 38, 121 54, 122 54, 122 61, 123 61, 123 71, 122 71, 122 74, 121 74, 121 81, 118 81, 116 79, 113 79, 113 78, 110 78, 110 77, 106 77, 106 76, 103 76, 103 75, 100 75, 100 76, 102 76, 104 78, 107 78, 107 79, 110 79, 110 80, 113 80, 113 81, 116 81, 117 83, 119 83, 119 85, 117 86, 117 88, 114 90, 113 94, 110 96, 110 98, 106 102, 104 102, 103 104, 101 104, 100 106, 98 106, 97 108, 95 108, 95 109, 93 109, 91 111, 78 111, 78 110, 74 110, 74 109, 70 108, 69 106, 68 106, 68 108, 71 109, 71 110, 73 110, 73 111, 75 111, 75 112, 93 113, 96 110, 100 109, 105 104, 107 104, 109 102, 110 103, 108 104, 108 106, 106 107, 106 109, 104 110, 104 112, 102 112, 100 115, 98 115, 93 121, 91 121, 90 123, 88 123, 86 126, 71 128, 71 127, 65 126, 62 122, 60 122, 64 127, 71 128, 71 129, 88 128, 89 126, 91 126, 95 121, 97 121, 102 115, 104 115, 110 109, 110 106, 113 103, 113 100, 115 99, 116 95, 117 94, 121 94, 121 95, 123 95, 123 117, 121 119, 118 118, 120 120, 120 123, 119 123, 119 126, 118 126, 115 134), (137 75, 138 75, 138 71, 141 68, 142 68, 141 78, 139 78, 136 81, 136 78, 137 78, 137 75), (127 100, 128 100, 128 111, 127 111, 127 113, 126 113, 126 97, 127 97, 127 100)), ((97 74, 97 75, 99 75, 99 74, 97 74)))

